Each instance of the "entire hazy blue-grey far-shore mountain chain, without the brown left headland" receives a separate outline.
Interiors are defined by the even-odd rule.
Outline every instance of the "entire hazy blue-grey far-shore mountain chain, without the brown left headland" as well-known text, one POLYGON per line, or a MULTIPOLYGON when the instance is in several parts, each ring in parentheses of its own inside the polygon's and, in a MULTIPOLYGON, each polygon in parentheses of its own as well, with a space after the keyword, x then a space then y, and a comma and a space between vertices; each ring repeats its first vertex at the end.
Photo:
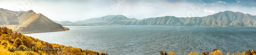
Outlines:
POLYGON ((164 16, 138 20, 123 15, 108 15, 75 22, 78 25, 173 25, 173 26, 256 26, 256 16, 224 11, 204 17, 164 16))

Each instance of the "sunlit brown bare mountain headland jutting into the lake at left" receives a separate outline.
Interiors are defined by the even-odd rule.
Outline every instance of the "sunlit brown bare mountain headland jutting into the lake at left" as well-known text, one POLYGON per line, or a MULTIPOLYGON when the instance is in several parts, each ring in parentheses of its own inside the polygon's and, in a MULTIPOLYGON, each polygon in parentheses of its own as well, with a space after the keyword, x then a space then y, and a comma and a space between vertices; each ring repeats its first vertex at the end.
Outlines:
POLYGON ((62 31, 62 25, 53 22, 42 14, 36 14, 34 11, 15 12, 6 9, 0 9, 0 26, 20 33, 37 33, 62 31))

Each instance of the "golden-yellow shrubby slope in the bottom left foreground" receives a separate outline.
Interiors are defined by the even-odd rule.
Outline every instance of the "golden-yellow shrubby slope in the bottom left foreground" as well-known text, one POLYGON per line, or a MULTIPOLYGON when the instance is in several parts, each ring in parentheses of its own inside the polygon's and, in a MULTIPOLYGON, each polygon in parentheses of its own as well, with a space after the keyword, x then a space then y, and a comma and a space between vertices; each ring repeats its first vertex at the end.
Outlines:
POLYGON ((28 37, 23 34, 13 32, 11 29, 6 27, 0 27, 0 54, 29 54, 29 55, 45 55, 45 54, 84 54, 84 55, 107 55, 104 52, 97 52, 93 50, 84 50, 81 48, 76 48, 72 46, 63 46, 54 43, 48 43, 45 41, 41 41, 36 38, 28 37), (54 48, 60 47, 60 50, 37 50, 45 48, 54 48), (31 50, 8 50, 10 48, 31 48, 31 50))

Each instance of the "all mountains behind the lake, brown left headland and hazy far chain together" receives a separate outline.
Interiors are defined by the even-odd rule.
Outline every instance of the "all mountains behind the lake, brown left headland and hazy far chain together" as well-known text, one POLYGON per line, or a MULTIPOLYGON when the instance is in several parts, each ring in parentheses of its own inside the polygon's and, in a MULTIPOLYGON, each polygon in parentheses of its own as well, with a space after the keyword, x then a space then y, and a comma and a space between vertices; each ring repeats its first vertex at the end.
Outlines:
POLYGON ((32 10, 10 11, 0 8, 0 26, 6 26, 16 32, 65 31, 67 28, 63 28, 62 25, 256 26, 256 16, 241 12, 224 11, 204 17, 163 16, 139 20, 127 18, 124 15, 107 15, 71 22, 52 21, 32 10))

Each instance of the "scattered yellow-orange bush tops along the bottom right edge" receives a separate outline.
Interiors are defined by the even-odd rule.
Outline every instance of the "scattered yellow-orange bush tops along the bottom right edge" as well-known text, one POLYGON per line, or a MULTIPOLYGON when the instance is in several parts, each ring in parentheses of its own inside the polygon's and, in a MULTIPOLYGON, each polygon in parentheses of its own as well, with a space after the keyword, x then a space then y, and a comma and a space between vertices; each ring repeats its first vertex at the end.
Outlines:
MULTIPOLYGON (((163 51, 160 51, 160 54, 161 55, 176 55, 174 53, 174 51, 170 51, 168 54, 166 53, 166 51, 164 53, 163 53, 163 51)), ((242 53, 234 52, 233 54, 230 54, 230 52, 227 52, 226 54, 227 55, 256 55, 256 49, 255 50, 251 49, 251 51, 248 49, 248 50, 246 50, 246 52, 242 52, 242 53)), ((190 53, 188 53, 188 55, 199 55, 199 53, 198 52, 190 52, 190 53)), ((212 52, 208 52, 208 51, 202 52, 201 55, 224 55, 224 54, 220 50, 214 49, 212 52)))

